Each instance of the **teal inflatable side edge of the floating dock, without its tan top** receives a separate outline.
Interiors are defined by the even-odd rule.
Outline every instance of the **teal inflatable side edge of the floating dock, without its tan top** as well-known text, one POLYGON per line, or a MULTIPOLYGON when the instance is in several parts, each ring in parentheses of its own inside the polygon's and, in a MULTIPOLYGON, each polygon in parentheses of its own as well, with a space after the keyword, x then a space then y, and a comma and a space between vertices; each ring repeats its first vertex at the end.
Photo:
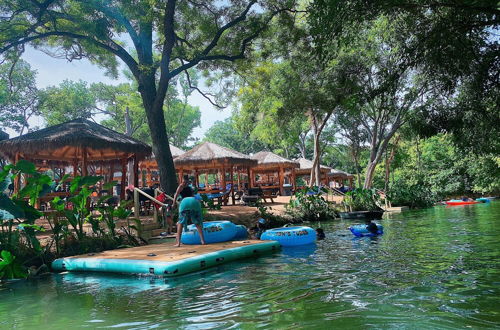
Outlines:
POLYGON ((55 271, 70 272, 110 272, 128 274, 151 274, 158 276, 179 276, 205 268, 217 266, 238 259, 259 256, 276 251, 280 244, 276 241, 259 244, 243 245, 216 252, 209 252, 176 261, 155 261, 137 259, 60 258, 52 262, 55 271))

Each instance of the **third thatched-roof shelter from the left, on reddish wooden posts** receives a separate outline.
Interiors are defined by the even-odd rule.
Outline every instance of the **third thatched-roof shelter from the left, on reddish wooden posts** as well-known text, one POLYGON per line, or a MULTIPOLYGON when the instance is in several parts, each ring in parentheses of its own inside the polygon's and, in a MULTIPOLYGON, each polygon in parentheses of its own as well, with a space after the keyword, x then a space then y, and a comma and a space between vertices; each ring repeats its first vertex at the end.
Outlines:
MULTIPOLYGON (((289 181, 295 187, 295 169, 299 168, 300 164, 297 161, 286 159, 270 151, 261 151, 251 156, 257 160, 257 165, 251 168, 252 185, 259 185, 255 182, 256 175, 269 178, 270 174, 277 174, 278 184, 274 182, 266 182, 265 186, 271 189, 279 189, 280 194, 284 195, 283 185, 285 176, 288 174, 289 181)), ((274 176, 272 176, 274 178, 274 176)), ((269 181, 269 179, 267 180, 269 181)))

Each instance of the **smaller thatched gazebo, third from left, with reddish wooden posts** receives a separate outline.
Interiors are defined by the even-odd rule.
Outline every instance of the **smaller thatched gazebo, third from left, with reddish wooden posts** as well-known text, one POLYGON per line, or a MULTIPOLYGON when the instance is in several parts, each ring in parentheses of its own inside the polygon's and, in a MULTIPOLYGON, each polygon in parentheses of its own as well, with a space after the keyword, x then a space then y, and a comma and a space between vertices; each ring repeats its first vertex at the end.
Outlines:
POLYGON ((295 170, 300 167, 299 162, 269 151, 261 151, 251 157, 257 160, 257 166, 250 170, 250 187, 260 187, 269 198, 278 192, 281 196, 291 194, 295 187, 295 170))

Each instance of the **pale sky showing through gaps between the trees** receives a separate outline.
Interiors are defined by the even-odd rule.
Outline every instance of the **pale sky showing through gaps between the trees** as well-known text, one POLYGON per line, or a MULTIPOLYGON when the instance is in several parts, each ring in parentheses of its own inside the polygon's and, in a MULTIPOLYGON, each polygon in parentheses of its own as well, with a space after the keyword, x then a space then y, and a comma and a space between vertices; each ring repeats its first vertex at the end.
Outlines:
MULTIPOLYGON (((31 65, 32 69, 37 71, 38 88, 59 85, 65 79, 74 81, 81 79, 88 83, 102 82, 110 85, 127 82, 123 75, 120 75, 118 79, 105 76, 103 69, 87 60, 68 62, 65 59, 55 59, 31 47, 26 48, 23 59, 31 65)), ((191 105, 200 107, 201 111, 201 127, 195 128, 192 135, 195 138, 203 138, 205 132, 217 120, 224 120, 231 114, 229 108, 224 110, 216 109, 196 91, 188 98, 188 102, 191 105)), ((41 118, 35 118, 30 123, 34 126, 44 126, 41 118)), ((7 130, 7 133, 9 133, 10 137, 17 135, 12 130, 7 130)))

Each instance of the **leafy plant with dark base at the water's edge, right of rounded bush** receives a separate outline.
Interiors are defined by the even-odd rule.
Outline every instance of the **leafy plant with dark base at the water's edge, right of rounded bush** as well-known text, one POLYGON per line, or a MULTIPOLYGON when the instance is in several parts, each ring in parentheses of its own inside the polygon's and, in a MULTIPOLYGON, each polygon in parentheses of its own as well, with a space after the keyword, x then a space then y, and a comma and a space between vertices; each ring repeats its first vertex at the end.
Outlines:
POLYGON ((340 212, 342 219, 381 219, 384 210, 380 195, 375 189, 356 188, 345 194, 342 202, 346 212, 340 212))

